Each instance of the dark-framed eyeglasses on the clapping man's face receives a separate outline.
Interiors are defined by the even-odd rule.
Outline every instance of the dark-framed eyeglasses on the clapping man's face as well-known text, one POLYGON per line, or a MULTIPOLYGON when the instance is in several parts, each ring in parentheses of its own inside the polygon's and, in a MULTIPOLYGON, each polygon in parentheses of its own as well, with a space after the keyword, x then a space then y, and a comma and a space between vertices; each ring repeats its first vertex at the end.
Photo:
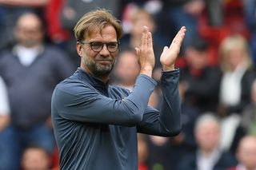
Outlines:
MULTIPOLYGON (((78 41, 79 42, 79 41, 78 41)), ((89 44, 90 48, 94 52, 100 52, 103 49, 103 46, 106 44, 106 49, 110 53, 114 53, 118 50, 119 42, 80 42, 81 44, 89 44)))

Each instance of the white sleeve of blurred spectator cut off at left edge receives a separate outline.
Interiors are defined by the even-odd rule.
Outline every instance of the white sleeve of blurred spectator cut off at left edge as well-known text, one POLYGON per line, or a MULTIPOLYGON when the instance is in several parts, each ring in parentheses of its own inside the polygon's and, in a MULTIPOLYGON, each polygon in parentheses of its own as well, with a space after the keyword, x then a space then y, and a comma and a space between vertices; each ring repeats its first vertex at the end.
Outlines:
POLYGON ((7 89, 4 81, 0 77, 0 116, 10 113, 10 106, 8 102, 7 89))

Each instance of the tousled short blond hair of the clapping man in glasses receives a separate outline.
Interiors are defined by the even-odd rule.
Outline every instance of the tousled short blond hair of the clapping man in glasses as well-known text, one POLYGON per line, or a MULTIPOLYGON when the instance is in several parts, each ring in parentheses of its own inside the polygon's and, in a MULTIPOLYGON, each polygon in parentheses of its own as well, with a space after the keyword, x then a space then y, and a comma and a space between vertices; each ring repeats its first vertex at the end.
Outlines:
POLYGON ((115 18, 108 10, 92 10, 82 16, 76 26, 74 26, 74 36, 81 42, 96 29, 102 31, 106 26, 114 26, 118 40, 122 36, 122 26, 120 21, 115 18))

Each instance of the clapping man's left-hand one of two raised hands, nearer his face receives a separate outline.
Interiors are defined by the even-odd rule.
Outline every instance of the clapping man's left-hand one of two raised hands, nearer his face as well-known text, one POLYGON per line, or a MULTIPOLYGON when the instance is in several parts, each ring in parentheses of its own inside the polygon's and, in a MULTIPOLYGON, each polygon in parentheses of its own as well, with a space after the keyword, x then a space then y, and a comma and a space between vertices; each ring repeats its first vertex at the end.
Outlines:
POLYGON ((144 26, 141 43, 139 47, 135 49, 138 56, 138 64, 141 67, 140 74, 146 74, 152 77, 152 71, 154 69, 154 49, 152 34, 148 27, 144 26))

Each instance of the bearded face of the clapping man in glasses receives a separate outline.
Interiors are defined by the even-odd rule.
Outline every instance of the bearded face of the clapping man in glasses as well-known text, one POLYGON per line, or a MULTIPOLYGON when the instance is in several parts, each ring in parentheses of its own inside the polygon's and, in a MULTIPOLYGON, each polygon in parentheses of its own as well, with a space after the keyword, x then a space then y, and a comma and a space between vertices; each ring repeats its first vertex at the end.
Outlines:
POLYGON ((118 42, 117 34, 113 26, 106 26, 100 30, 94 30, 83 42, 77 43, 78 54, 81 58, 81 68, 94 77, 106 78, 114 67, 118 50, 113 53, 107 49, 106 44, 100 51, 94 51, 90 42, 118 42))

